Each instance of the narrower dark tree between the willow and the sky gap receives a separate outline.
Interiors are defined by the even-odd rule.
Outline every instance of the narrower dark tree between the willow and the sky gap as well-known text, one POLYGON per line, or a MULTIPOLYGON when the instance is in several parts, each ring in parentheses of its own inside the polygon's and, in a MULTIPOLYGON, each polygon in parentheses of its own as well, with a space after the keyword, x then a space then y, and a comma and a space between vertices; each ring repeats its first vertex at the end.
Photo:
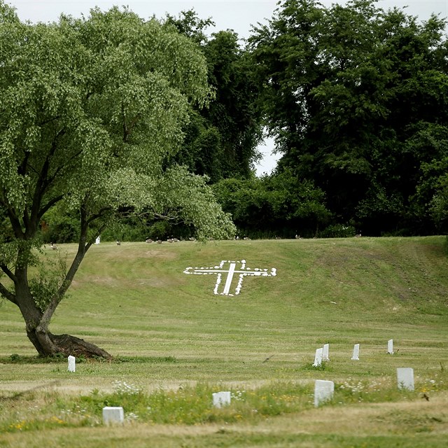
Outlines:
MULTIPOLYGON (((209 107, 195 108, 193 120, 184 128, 182 151, 172 159, 196 174, 207 174, 211 183, 229 177, 248 178, 260 158, 262 137, 258 86, 248 51, 241 48, 235 31, 218 31, 207 38, 210 19, 200 20, 193 10, 165 23, 200 43, 207 59, 208 79, 214 90, 209 107)), ((170 161, 172 161, 170 160, 170 161)))

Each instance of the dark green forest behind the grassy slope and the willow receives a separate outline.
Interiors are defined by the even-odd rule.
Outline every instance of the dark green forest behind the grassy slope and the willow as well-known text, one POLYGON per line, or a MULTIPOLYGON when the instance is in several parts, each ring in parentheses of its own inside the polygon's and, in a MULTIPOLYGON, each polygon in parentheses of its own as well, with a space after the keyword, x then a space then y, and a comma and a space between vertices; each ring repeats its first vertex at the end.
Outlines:
MULTIPOLYGON (((232 30, 207 36, 211 20, 184 11, 162 21, 200 47, 214 91, 192 106, 181 149, 163 168, 207 176, 239 237, 447 232, 445 18, 419 22, 370 0, 286 0, 248 41, 232 30), (281 159, 258 178, 264 134, 281 159)), ((162 216, 130 215, 102 238, 193 236, 176 214, 162 216)), ((43 239, 76 241, 78 223, 52 209, 43 239)))

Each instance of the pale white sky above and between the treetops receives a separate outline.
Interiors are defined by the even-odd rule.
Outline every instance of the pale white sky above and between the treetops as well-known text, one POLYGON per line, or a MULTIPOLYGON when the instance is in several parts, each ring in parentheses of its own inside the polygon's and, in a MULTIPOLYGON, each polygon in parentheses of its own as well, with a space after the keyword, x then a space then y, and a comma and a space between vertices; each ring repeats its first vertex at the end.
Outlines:
MULTIPOLYGON (((324 6, 332 3, 346 3, 345 0, 320 0, 324 6)), ((165 13, 177 16, 182 10, 194 9, 202 18, 212 18, 216 22, 215 29, 209 32, 233 29, 241 38, 250 34, 251 25, 265 23, 272 18, 277 0, 6 0, 14 6, 20 20, 31 22, 53 22, 61 13, 80 17, 87 16, 91 8, 98 6, 108 10, 113 5, 129 6, 130 10, 141 18, 165 17, 165 13)), ((431 13, 448 17, 448 0, 379 0, 377 5, 383 9, 403 8, 406 12, 416 15, 420 20, 427 20, 431 13)), ((276 165, 278 155, 272 154, 274 147, 271 140, 260 146, 264 157, 257 167, 257 175, 270 173, 276 165)))

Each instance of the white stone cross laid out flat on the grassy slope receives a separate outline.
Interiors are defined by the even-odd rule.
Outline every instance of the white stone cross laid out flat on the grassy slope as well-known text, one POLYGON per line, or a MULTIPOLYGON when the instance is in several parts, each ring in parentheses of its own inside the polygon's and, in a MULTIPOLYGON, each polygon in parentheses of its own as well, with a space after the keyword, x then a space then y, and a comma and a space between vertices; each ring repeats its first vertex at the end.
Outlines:
POLYGON ((216 284, 214 293, 221 295, 238 295, 243 285, 243 279, 245 276, 276 276, 275 267, 272 267, 270 272, 268 272, 267 269, 260 269, 257 267, 255 267, 255 269, 251 269, 250 267, 246 267, 246 260, 221 260, 221 263, 218 266, 195 268, 187 267, 183 272, 184 274, 215 274, 216 284), (238 268, 237 265, 239 265, 238 268), (235 286, 234 294, 230 293, 230 288, 232 286, 232 281, 235 274, 238 275, 238 283, 235 286), (223 285, 223 288, 221 289, 221 281, 223 279, 223 276, 225 276, 225 283, 223 285))

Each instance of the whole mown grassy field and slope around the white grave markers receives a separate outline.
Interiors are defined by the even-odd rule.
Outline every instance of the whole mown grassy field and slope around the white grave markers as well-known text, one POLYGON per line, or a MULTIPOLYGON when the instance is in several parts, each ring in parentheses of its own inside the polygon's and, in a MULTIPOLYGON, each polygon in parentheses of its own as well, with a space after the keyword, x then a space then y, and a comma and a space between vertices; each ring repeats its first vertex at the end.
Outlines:
POLYGON ((36 358, 12 304, 0 321, 1 447, 447 446, 446 237, 93 246, 50 330, 115 359, 74 373, 36 358), (242 259, 277 275, 227 296, 216 275, 183 273, 242 259), (415 391, 398 391, 397 367, 415 391), (315 379, 335 381, 318 408, 315 379), (211 405, 219 390, 230 407, 211 405), (103 426, 104 405, 123 405, 125 425, 103 426))

